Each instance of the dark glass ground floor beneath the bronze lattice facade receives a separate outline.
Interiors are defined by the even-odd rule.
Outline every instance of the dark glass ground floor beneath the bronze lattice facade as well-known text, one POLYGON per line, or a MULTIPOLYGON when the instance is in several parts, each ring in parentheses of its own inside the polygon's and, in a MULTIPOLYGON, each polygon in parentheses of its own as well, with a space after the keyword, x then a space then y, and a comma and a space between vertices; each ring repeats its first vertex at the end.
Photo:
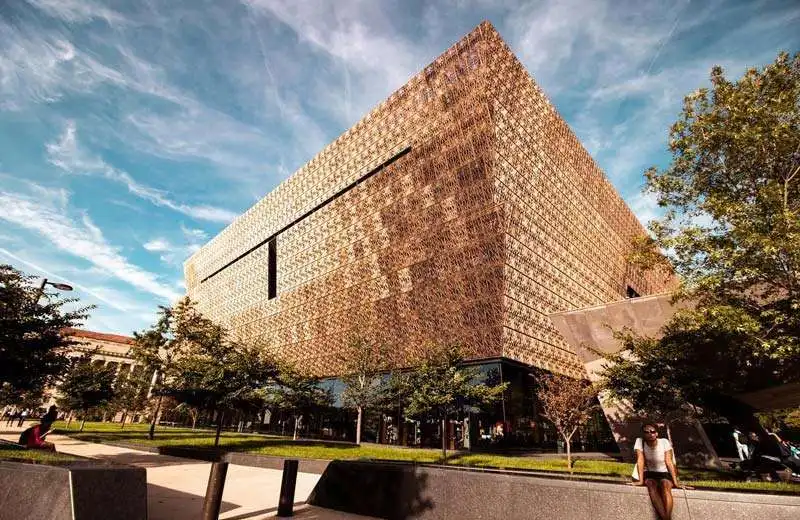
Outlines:
MULTIPOLYGON (((505 359, 473 363, 478 374, 488 384, 508 382, 502 399, 484 410, 465 407, 452 417, 442 431, 435 418, 409 419, 402 406, 372 409, 365 412, 362 440, 400 446, 441 447, 442 435, 450 449, 468 450, 526 450, 560 451, 563 449, 552 424, 541 416, 536 398, 537 379, 544 373, 533 367, 505 359)), ((341 403, 343 383, 335 378, 321 385, 334 398, 334 406, 308 414, 303 418, 300 435, 339 441, 355 441, 356 414, 344 409, 341 403)), ((262 431, 290 435, 294 422, 288 415, 276 412, 263 417, 262 431)), ((618 451, 608 423, 602 412, 573 438, 574 451, 618 451)))

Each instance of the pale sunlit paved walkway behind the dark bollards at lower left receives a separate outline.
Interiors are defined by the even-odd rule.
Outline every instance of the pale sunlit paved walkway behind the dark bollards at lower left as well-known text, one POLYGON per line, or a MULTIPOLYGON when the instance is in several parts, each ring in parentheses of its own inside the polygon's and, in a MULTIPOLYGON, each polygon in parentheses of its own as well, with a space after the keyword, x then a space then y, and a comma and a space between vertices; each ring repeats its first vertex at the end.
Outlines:
MULTIPOLYGON (((28 426, 34 422, 26 423, 28 426)), ((15 441, 23 428, 0 425, 0 438, 15 441)), ((157 455, 146 451, 79 441, 63 435, 49 435, 56 451, 93 459, 130 464, 147 470, 149 520, 196 520, 200 518, 211 464, 191 459, 157 455)), ((278 508, 282 472, 231 464, 222 494, 220 520, 274 518, 278 508)), ((309 519, 366 518, 303 506, 319 475, 297 474, 295 517, 309 519)))

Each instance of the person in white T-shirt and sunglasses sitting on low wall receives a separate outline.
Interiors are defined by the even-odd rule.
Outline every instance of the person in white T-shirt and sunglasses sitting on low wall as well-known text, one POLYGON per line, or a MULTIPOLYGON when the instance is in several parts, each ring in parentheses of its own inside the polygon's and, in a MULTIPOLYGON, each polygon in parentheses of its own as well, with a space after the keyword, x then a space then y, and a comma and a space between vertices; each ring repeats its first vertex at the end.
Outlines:
POLYGON ((650 501, 661 520, 672 519, 672 488, 683 488, 678 482, 678 469, 668 439, 658 438, 658 427, 653 423, 642 426, 644 440, 636 439, 636 475, 633 486, 647 486, 650 501))

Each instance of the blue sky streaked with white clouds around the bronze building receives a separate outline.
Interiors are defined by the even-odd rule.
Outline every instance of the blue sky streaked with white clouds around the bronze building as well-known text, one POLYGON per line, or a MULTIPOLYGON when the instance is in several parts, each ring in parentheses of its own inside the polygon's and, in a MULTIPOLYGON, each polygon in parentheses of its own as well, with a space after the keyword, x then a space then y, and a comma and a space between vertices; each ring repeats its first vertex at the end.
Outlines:
POLYGON ((643 221, 712 65, 800 50, 796 1, 0 1, 0 262, 130 333, 182 263, 488 19, 643 221))

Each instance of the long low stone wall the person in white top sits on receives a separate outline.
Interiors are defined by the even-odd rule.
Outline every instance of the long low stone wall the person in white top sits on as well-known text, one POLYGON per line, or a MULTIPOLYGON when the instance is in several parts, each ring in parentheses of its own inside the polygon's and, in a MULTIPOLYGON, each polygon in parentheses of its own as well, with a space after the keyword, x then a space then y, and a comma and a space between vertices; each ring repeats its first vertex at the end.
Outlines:
MULTIPOLYGON (((674 490, 673 520, 795 520, 792 496, 674 490)), ((647 490, 524 473, 331 462, 309 504, 389 519, 653 519, 647 490)))

